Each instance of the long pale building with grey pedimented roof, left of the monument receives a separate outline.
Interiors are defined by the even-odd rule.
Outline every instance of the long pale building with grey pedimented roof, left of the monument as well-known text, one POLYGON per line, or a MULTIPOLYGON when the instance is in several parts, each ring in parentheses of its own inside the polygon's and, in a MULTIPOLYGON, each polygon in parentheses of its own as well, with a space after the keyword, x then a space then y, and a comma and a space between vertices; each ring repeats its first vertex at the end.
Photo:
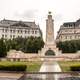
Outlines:
POLYGON ((41 37, 42 32, 39 25, 35 22, 1 20, 0 21, 0 38, 13 39, 17 37, 41 37))

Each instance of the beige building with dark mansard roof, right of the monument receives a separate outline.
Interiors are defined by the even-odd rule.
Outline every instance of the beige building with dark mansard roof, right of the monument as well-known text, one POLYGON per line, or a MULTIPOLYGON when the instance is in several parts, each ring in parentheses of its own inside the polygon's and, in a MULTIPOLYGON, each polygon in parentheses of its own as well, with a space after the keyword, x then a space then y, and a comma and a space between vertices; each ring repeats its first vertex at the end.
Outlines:
POLYGON ((76 22, 68 22, 60 26, 60 29, 56 37, 56 41, 78 39, 80 39, 80 19, 76 22))

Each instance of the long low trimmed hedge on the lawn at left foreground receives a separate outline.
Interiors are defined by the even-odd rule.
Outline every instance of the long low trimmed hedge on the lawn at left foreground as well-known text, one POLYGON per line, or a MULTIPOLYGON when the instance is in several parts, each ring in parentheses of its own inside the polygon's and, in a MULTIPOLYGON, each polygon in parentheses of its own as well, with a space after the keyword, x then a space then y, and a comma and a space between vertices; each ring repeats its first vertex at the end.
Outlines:
POLYGON ((26 71, 27 66, 22 64, 0 65, 0 71, 26 71))

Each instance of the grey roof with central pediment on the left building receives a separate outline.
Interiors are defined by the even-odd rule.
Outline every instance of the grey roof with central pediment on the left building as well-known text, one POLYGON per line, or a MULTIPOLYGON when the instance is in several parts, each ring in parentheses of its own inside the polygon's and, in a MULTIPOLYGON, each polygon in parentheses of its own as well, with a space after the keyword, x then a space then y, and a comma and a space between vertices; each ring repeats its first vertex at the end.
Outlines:
POLYGON ((22 27, 32 27, 38 28, 39 26, 35 24, 35 22, 28 22, 28 21, 15 21, 15 20, 7 20, 3 19, 0 21, 0 26, 22 26, 22 27))

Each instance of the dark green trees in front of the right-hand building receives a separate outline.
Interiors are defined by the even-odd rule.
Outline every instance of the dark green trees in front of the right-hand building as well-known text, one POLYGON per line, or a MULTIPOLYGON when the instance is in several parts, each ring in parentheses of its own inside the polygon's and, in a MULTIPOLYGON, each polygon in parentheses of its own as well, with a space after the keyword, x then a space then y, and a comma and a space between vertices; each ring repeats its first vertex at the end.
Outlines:
POLYGON ((57 47, 59 47, 59 50, 62 50, 63 53, 75 53, 80 50, 80 40, 58 42, 57 47))

